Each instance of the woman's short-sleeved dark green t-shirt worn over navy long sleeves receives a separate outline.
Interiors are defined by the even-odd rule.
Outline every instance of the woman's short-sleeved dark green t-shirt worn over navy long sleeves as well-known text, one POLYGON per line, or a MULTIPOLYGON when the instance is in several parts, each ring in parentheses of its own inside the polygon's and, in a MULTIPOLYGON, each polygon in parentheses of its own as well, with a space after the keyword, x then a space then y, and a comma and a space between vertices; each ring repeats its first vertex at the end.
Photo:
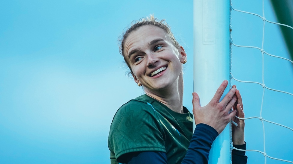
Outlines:
POLYGON ((181 163, 192 138, 192 114, 172 111, 161 102, 141 95, 122 105, 110 126, 111 164, 122 154, 162 151, 168 163, 181 163))

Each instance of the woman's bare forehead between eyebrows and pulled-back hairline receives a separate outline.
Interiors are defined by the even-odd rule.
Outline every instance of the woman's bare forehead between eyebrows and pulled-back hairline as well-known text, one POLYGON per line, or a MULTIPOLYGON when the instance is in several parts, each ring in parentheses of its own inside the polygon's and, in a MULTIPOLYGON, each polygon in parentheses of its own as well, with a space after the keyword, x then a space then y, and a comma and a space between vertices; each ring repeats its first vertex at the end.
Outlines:
POLYGON ((143 48, 155 39, 163 39, 169 42, 169 37, 162 28, 154 25, 143 25, 137 30, 132 31, 126 38, 124 43, 124 54, 127 55, 127 53, 134 48, 143 48))

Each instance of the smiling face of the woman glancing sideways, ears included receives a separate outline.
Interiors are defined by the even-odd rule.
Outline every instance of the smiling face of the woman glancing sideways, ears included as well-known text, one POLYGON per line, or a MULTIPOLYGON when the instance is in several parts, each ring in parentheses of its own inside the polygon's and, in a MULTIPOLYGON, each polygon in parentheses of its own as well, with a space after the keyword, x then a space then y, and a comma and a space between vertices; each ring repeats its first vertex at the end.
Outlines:
POLYGON ((165 31, 153 25, 141 26, 128 35, 124 55, 134 81, 141 83, 145 91, 174 85, 182 73, 181 63, 186 59, 183 47, 178 50, 165 31))

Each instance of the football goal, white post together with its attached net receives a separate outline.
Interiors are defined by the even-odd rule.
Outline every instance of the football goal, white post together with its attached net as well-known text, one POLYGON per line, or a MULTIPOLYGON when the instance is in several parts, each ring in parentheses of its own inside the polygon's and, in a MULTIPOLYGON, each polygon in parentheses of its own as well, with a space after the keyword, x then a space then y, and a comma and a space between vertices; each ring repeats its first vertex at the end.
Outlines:
MULTIPOLYGON (((194 91, 204 106, 225 79, 240 90, 248 163, 293 163, 293 62, 280 25, 293 31, 268 0, 194 0, 194 91)), ((233 149, 227 126, 209 163, 231 163, 233 149)))

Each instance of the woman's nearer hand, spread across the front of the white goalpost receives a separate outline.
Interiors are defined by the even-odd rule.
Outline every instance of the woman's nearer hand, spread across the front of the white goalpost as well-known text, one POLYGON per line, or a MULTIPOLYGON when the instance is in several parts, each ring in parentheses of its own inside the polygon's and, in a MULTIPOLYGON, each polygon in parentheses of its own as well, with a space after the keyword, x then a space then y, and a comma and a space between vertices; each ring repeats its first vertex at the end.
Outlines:
MULTIPOLYGON (((217 89, 216 94, 214 95, 212 100, 209 102, 209 104, 207 104, 204 107, 201 107, 200 105, 198 94, 195 92, 192 93, 193 95, 192 112, 195 118, 195 124, 204 123, 204 124, 210 125, 214 129, 216 129, 219 134, 225 129, 226 125, 236 115, 236 110, 233 110, 230 113, 229 111, 237 101, 237 95, 235 95, 237 89, 236 87, 233 87, 225 95, 223 100, 219 102, 227 85, 228 85, 228 81, 227 80, 223 81, 221 86, 217 89)), ((238 94, 239 94, 239 91, 238 91, 238 94)), ((241 96, 240 96, 240 100, 241 100, 241 96)), ((241 104, 242 104, 242 101, 241 101, 241 104)))

